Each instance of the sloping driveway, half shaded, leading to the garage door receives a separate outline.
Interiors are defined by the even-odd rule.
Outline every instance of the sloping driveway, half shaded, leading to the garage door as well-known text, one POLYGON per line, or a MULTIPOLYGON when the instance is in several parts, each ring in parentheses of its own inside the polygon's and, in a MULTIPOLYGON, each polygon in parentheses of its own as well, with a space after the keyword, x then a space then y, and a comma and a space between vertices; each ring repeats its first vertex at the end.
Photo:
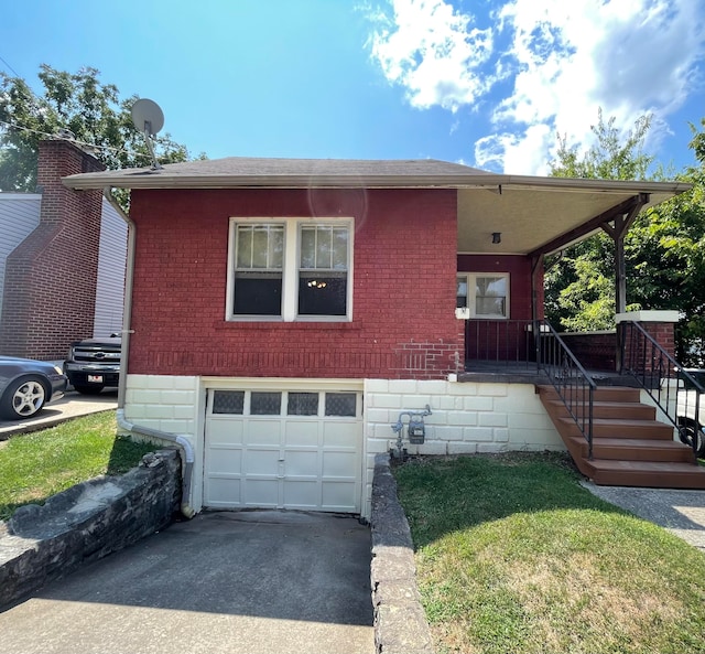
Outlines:
POLYGON ((3 654, 375 652, 370 532, 303 512, 176 523, 0 613, 3 654))

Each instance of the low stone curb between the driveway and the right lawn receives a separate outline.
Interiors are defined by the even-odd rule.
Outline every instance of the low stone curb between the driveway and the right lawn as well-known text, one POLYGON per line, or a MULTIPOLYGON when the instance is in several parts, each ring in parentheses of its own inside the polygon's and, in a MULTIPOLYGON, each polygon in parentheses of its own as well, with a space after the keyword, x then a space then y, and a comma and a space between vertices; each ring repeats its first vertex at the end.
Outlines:
POLYGON ((378 654, 433 654, 431 630, 416 588, 414 548, 399 504, 389 454, 375 458, 370 581, 378 654))

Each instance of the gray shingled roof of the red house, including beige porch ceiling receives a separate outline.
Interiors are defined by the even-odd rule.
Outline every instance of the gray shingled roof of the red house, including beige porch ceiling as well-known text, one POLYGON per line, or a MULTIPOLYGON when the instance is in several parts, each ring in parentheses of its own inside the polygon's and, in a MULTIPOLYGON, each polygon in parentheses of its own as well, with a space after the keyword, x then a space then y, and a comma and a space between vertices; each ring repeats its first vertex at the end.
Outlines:
POLYGON ((456 189, 458 251, 540 256, 615 219, 690 189, 680 182, 623 182, 496 174, 421 160, 229 157, 64 178, 87 189, 456 189), (501 233, 501 243, 492 234, 501 233))

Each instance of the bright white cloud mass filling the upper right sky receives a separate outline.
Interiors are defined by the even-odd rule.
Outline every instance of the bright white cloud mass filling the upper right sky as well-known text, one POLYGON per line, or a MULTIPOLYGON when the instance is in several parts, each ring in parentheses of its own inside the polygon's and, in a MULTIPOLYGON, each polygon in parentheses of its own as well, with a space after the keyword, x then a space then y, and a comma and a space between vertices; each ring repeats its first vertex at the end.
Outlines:
POLYGON ((391 0, 394 17, 375 35, 373 56, 416 107, 494 103, 497 133, 477 141, 477 165, 545 174, 555 135, 586 149, 600 107, 623 132, 652 114, 658 143, 668 117, 703 92, 702 1, 496 0, 479 30, 449 0, 391 0), (500 39, 507 51, 492 53, 500 39), (513 83, 506 97, 494 94, 500 78, 513 83))

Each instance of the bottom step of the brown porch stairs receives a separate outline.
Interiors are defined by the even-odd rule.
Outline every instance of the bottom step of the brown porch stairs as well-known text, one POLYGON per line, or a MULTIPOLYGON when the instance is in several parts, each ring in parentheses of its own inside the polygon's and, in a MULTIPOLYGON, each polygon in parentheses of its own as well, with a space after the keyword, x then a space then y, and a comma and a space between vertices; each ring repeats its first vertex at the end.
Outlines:
POLYGON ((705 489, 705 468, 693 463, 594 459, 585 465, 601 486, 705 489))

